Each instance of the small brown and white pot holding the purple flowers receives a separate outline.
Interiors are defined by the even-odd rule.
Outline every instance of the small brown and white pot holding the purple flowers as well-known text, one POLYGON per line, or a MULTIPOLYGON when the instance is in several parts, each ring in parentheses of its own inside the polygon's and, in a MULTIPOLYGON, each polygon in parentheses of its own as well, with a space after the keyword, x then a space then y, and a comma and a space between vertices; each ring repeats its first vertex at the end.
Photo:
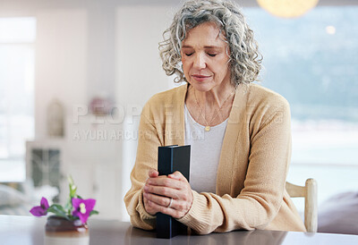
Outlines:
POLYGON ((81 220, 67 220, 59 216, 49 216, 45 226, 45 244, 89 245, 90 236, 87 224, 81 220))

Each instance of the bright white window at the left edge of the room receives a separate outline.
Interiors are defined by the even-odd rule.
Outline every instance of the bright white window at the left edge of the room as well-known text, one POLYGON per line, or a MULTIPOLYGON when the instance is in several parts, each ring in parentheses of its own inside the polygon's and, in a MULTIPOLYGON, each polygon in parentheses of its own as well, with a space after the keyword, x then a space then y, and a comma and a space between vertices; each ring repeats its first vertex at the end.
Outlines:
POLYGON ((0 18, 0 182, 25 180, 34 136, 35 18, 0 18))

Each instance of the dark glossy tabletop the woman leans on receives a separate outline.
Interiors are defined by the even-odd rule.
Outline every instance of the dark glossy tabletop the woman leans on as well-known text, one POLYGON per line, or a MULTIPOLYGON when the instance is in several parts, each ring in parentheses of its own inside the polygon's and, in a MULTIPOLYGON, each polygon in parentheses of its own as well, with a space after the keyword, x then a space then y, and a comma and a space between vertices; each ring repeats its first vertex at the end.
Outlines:
MULTIPOLYGON (((0 215, 0 245, 42 245, 46 217, 0 215)), ((358 236, 328 233, 234 231, 209 235, 176 236, 157 239, 155 232, 142 231, 128 222, 90 218, 90 245, 111 244, 358 244, 358 236)), ((68 244, 66 244, 68 245, 68 244)))

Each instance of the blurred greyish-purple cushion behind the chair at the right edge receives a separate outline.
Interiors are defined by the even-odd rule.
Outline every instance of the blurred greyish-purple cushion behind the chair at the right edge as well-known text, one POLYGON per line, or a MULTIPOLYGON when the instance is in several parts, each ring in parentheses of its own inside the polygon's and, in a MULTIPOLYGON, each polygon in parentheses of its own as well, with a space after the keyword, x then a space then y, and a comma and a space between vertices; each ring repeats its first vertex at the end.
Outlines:
POLYGON ((319 207, 318 232, 358 234, 358 192, 339 193, 319 207))

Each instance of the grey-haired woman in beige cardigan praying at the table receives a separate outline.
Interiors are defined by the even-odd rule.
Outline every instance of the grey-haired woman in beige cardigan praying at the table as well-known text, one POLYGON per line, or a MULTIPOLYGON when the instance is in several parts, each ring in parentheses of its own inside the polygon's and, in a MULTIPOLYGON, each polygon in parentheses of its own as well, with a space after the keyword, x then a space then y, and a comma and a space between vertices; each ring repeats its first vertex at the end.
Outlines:
POLYGON ((151 97, 143 108, 132 188, 124 198, 132 224, 155 229, 161 212, 201 234, 305 231, 285 189, 289 106, 251 83, 260 55, 240 8, 188 1, 165 37, 163 68, 186 84, 151 97), (191 183, 179 172, 158 176, 158 147, 184 144, 192 145, 191 183))

